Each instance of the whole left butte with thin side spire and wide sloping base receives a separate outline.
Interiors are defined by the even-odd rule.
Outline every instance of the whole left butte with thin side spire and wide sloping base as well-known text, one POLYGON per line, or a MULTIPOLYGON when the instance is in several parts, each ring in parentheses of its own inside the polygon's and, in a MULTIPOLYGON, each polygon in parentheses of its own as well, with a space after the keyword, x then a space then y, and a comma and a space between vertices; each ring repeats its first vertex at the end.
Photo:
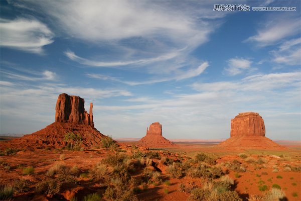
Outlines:
POLYGON ((73 132, 82 138, 81 146, 99 146, 103 137, 93 122, 93 104, 90 104, 90 114, 85 111, 85 100, 79 96, 62 93, 58 96, 56 103, 55 122, 46 128, 25 135, 20 139, 12 140, 12 145, 19 146, 65 146, 65 135, 73 132))

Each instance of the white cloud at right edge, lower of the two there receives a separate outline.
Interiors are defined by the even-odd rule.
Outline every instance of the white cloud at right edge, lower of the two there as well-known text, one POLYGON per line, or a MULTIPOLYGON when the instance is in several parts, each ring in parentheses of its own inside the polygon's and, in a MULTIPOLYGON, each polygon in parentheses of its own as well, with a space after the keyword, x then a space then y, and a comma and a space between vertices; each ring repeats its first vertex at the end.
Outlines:
POLYGON ((285 65, 301 65, 301 38, 282 43, 278 50, 271 51, 272 61, 285 65))

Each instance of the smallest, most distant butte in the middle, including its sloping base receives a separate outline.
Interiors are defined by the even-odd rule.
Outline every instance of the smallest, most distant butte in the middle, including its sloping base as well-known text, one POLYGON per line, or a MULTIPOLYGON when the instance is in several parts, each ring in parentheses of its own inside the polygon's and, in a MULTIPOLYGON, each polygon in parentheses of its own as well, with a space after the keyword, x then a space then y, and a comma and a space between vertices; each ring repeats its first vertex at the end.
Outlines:
POLYGON ((159 122, 149 125, 149 129, 146 128, 146 135, 137 144, 151 148, 177 146, 162 136, 162 125, 159 122))

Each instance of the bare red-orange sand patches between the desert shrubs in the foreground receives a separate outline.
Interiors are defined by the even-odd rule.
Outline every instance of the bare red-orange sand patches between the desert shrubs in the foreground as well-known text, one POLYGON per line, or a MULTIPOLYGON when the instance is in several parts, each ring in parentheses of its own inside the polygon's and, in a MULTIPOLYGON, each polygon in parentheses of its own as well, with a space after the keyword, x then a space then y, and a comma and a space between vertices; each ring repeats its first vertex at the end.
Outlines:
MULTIPOLYGON (((1 148, 3 148, 1 146, 1 148)), ((179 156, 190 156, 193 157, 198 152, 206 152, 214 154, 218 160, 217 165, 223 165, 227 161, 232 162, 233 160, 238 160, 242 164, 246 165, 247 171, 239 173, 240 177, 236 178, 234 171, 229 171, 229 176, 235 179, 236 188, 235 190, 240 194, 248 196, 250 194, 263 194, 264 192, 259 191, 259 182, 264 182, 269 188, 272 184, 277 183, 281 186, 281 189, 286 193, 288 200, 300 200, 301 199, 301 174, 300 172, 285 172, 284 165, 289 164, 291 166, 300 166, 301 163, 301 145, 298 147, 292 146, 285 150, 229 150, 224 149, 220 146, 214 145, 204 145, 204 144, 178 144, 178 146, 165 149, 175 154, 169 154, 165 156, 170 156, 172 158, 177 158, 179 156), (246 163, 244 159, 237 156, 238 153, 246 153, 249 157, 258 159, 259 157, 265 158, 267 162, 262 164, 261 169, 255 169, 258 164, 246 163), (283 155, 283 158, 278 157, 283 155), (277 167, 279 172, 272 172, 273 167, 277 167), (266 172, 267 174, 262 174, 266 172), (257 174, 257 176, 256 176, 257 174), (281 175, 282 178, 276 178, 277 175, 281 175), (260 181, 261 180, 261 181, 260 181), (294 184, 292 184, 294 183, 294 184), (297 192, 298 197, 293 197, 292 193, 297 192)), ((161 150, 152 150, 162 153, 161 150)), ((55 163, 62 163, 66 166, 72 167, 77 165, 82 172, 87 172, 91 167, 93 167, 102 158, 106 157, 110 151, 106 149, 98 150, 85 150, 85 151, 56 151, 46 150, 46 149, 34 149, 32 151, 25 150, 20 151, 16 155, 12 156, 1 156, 1 160, 9 163, 11 165, 10 170, 0 169, 0 183, 7 184, 12 183, 16 178, 29 179, 33 183, 39 182, 46 178, 45 173, 52 167, 55 163), (65 154, 65 160, 60 161, 60 154, 65 154), (34 156, 34 157, 33 157, 34 156), (27 166, 34 166, 35 172, 33 175, 23 175, 23 168, 27 166)), ((130 154, 129 151, 127 151, 130 154)), ((134 173, 133 177, 139 176, 141 172, 134 173)), ((163 175, 166 175, 164 173, 163 175)), ((201 178, 189 178, 184 177, 181 179, 170 179, 171 185, 165 185, 161 183, 160 185, 154 186, 149 184, 147 189, 143 189, 137 194, 138 198, 141 200, 187 200, 189 197, 188 193, 179 191, 179 184, 184 183, 188 185, 189 183, 195 183, 198 186, 202 186, 203 179, 201 178), (168 189, 169 193, 166 194, 164 189, 168 189)), ((79 178, 79 188, 76 196, 78 199, 82 198, 84 194, 92 192, 103 192, 103 189, 99 187, 98 183, 90 182, 88 178, 79 178)), ((68 189, 76 188, 76 186, 70 186, 68 189)), ((32 185, 34 188, 34 184, 32 185)), ((66 200, 66 192, 68 190, 66 187, 63 189, 62 193, 54 196, 53 198, 47 198, 44 195, 37 195, 34 191, 29 193, 19 193, 14 200, 66 200)))

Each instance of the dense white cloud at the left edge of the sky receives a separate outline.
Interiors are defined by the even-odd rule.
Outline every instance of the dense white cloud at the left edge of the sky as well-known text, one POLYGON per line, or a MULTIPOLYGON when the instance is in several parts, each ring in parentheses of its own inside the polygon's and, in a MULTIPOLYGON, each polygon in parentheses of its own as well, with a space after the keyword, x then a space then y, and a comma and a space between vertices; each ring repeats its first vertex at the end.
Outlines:
POLYGON ((54 34, 37 20, 1 19, 0 26, 0 45, 3 47, 43 54, 43 46, 53 43, 54 34))

